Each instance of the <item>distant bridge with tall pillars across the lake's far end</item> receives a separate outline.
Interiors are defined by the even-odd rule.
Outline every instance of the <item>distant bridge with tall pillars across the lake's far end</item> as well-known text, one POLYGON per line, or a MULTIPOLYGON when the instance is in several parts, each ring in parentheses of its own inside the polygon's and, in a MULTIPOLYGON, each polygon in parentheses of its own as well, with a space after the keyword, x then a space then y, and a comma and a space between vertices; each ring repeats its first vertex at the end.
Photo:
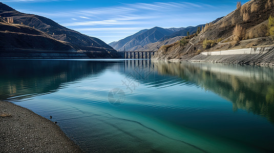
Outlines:
POLYGON ((151 59, 156 52, 118 52, 123 59, 151 59))

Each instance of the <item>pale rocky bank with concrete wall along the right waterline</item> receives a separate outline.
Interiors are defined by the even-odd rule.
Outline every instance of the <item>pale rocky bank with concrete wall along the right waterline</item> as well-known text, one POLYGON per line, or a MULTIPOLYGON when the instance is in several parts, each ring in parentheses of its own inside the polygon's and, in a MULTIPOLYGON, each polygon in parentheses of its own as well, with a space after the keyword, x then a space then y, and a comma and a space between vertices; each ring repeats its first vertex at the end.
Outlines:
POLYGON ((180 59, 152 58, 152 60, 274 66, 274 46, 203 52, 194 57, 183 56, 180 59))

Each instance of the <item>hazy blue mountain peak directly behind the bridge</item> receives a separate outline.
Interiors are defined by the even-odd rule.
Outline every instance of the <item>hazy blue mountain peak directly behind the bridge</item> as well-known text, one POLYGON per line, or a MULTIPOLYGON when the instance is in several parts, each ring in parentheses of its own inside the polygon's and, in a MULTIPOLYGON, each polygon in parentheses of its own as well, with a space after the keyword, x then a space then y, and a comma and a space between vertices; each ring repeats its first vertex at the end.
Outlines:
POLYGON ((174 33, 174 30, 154 27, 152 29, 141 30, 138 33, 119 40, 116 43, 110 43, 116 50, 134 50, 142 48, 144 45, 159 41, 162 37, 174 33))

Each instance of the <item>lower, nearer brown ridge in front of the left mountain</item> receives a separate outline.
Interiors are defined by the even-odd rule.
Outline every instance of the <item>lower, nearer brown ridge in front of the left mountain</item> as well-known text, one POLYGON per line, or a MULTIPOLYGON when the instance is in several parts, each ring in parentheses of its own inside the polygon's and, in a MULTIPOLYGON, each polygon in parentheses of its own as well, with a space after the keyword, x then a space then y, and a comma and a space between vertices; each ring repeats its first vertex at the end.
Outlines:
POLYGON ((67 42, 58 41, 47 33, 26 25, 10 24, 0 20, 0 48, 36 48, 73 50, 67 42), (2 21, 2 22, 1 22, 2 21))

